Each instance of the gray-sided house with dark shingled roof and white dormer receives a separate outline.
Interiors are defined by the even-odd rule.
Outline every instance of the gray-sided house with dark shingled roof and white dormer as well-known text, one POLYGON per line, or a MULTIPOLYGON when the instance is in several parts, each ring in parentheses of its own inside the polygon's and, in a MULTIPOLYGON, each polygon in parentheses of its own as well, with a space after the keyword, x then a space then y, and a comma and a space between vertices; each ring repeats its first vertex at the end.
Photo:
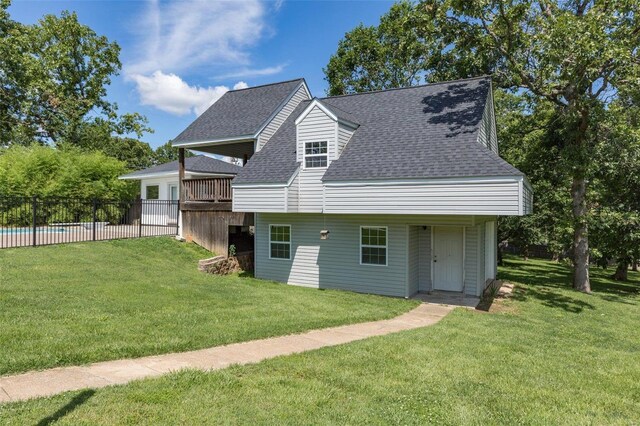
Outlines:
POLYGON ((327 98, 304 80, 239 92, 174 146, 247 160, 232 210, 255 213, 257 277, 400 297, 479 296, 495 278, 497 217, 530 213, 533 192, 499 156, 490 78, 327 98), (257 111, 259 125, 244 121, 257 111))

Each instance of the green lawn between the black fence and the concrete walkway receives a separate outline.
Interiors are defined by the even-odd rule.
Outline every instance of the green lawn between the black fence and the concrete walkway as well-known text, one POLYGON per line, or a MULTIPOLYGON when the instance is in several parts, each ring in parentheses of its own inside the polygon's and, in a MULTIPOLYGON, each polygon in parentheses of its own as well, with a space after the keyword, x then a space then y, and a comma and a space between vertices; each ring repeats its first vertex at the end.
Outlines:
POLYGON ((416 302, 197 271, 171 238, 0 250, 0 375, 390 318, 416 302))

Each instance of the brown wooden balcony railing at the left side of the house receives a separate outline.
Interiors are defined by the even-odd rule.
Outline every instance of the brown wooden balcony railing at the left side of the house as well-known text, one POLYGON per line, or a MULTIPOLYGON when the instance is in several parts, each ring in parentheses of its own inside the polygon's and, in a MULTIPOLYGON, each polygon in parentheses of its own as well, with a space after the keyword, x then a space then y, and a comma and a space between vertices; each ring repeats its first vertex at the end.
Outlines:
POLYGON ((196 206, 200 206, 206 210, 231 210, 232 179, 183 179, 183 207, 193 209, 196 206))

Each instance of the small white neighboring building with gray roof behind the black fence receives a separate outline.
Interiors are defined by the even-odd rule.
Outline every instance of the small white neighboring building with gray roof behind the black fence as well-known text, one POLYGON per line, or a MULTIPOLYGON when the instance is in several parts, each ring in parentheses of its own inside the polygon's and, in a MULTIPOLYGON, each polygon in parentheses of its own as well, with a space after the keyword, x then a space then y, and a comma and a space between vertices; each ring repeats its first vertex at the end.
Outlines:
MULTIPOLYGON (((180 197, 178 161, 160 164, 120 176, 123 180, 140 181, 142 222, 145 225, 175 226, 178 224, 178 209, 166 201, 180 197), (154 203, 153 200, 159 200, 154 203)), ((185 184, 193 185, 203 179, 224 178, 229 182, 242 167, 215 158, 198 155, 185 159, 185 184)), ((225 201, 230 201, 225 200, 225 201)))

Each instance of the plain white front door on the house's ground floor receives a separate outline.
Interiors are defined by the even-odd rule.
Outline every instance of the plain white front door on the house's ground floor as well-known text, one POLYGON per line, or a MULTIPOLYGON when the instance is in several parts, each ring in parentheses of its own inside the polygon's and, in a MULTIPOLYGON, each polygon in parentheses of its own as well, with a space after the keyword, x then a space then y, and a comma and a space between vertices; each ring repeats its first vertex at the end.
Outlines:
POLYGON ((459 226, 433 229, 433 288, 462 291, 463 232, 459 226))

